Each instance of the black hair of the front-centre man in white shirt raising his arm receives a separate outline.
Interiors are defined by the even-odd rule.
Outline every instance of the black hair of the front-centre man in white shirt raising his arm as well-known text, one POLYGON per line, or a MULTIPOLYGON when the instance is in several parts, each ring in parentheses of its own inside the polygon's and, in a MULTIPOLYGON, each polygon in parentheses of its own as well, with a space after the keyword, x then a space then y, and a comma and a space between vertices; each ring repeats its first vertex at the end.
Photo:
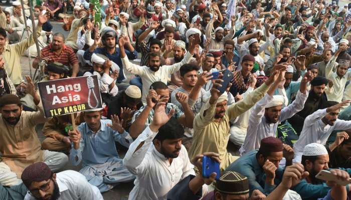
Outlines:
POLYGON ((180 124, 174 117, 170 117, 167 123, 158 129, 158 133, 153 140, 157 139, 162 142, 165 139, 179 139, 183 136, 184 128, 182 124, 180 124))

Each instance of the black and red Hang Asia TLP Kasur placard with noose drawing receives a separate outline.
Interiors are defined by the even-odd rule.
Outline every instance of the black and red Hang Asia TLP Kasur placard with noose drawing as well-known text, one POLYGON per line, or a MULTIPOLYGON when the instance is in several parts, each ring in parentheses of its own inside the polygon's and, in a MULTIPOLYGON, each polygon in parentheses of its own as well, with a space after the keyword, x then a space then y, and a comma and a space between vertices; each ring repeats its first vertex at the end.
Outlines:
POLYGON ((45 117, 101 108, 97 75, 38 82, 45 117))

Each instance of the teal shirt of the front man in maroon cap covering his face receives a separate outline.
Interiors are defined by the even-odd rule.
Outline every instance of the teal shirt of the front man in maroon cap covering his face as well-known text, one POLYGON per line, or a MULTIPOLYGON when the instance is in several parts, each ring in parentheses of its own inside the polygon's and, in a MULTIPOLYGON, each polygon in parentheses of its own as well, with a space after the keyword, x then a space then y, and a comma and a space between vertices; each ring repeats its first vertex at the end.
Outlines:
POLYGON ((268 195, 274 190, 276 185, 281 182, 281 177, 284 171, 281 167, 278 167, 275 171, 275 184, 265 185, 266 174, 257 162, 256 153, 257 150, 252 150, 239 157, 226 168, 226 171, 236 171, 246 176, 249 179, 250 195, 254 189, 258 189, 262 193, 268 195))

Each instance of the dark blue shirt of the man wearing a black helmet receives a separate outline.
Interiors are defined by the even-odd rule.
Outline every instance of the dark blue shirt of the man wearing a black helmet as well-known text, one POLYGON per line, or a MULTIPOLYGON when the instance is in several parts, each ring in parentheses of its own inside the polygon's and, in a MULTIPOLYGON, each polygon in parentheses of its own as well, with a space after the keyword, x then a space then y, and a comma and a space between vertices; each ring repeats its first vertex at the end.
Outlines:
MULTIPOLYGON (((89 49, 87 49, 84 52, 84 55, 83 55, 84 59, 91 60, 91 55, 93 53, 103 54, 106 57, 108 57, 109 60, 111 60, 114 63, 116 63, 119 66, 119 68, 120 68, 119 74, 118 74, 118 77, 117 77, 116 81, 117 82, 121 82, 122 80, 124 80, 125 77, 124 77, 124 73, 123 73, 123 64, 122 64, 121 53, 120 53, 119 48, 116 48, 115 52, 112 53, 112 54, 107 52, 106 48, 104 48, 104 47, 96 48, 93 52, 90 52, 89 49)), ((134 49, 133 52, 130 52, 127 49, 125 49, 125 53, 127 54, 128 59, 136 59, 137 52, 136 52, 135 49, 134 49)))

